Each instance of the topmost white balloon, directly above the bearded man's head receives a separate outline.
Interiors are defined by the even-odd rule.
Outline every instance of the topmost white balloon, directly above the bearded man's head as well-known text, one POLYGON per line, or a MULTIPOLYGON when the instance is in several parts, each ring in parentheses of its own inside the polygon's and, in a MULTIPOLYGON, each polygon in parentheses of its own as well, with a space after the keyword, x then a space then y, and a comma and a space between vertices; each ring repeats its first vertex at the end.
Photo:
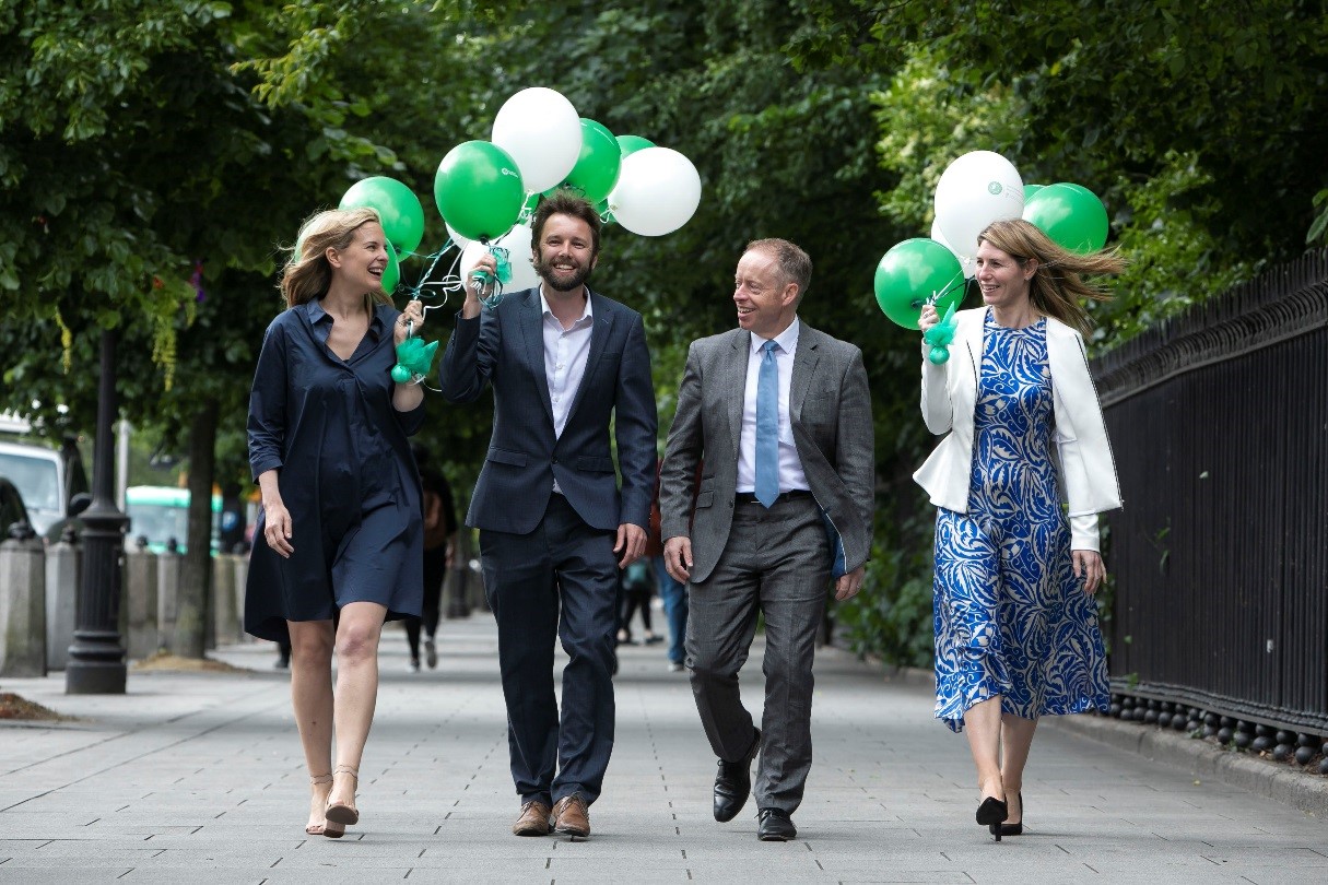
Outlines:
POLYGON ((580 115, 562 93, 531 86, 498 109, 490 141, 517 161, 527 191, 547 191, 580 157, 580 115))

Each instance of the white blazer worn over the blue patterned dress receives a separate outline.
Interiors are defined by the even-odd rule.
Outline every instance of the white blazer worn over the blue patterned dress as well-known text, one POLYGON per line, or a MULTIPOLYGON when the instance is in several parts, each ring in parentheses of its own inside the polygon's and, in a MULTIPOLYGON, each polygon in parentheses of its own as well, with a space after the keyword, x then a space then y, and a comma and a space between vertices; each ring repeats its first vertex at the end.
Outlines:
MULTIPOLYGON (((950 360, 939 366, 926 358, 922 361, 923 421, 931 433, 947 435, 914 479, 927 490, 932 504, 956 513, 968 512, 985 314, 987 308, 956 312, 957 329, 950 345, 950 360)), ((1121 486, 1102 407, 1089 374, 1084 338, 1054 317, 1046 317, 1046 361, 1056 419, 1053 460, 1061 495, 1069 504, 1070 548, 1097 551, 1097 515, 1122 506, 1121 486)))

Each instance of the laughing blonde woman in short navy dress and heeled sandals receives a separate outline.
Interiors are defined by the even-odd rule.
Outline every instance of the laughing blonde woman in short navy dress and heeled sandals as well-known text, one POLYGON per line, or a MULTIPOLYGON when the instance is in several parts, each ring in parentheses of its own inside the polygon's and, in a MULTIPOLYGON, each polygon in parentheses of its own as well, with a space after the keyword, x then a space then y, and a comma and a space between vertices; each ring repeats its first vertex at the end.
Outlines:
POLYGON ((282 277, 288 309, 267 329, 250 397, 263 507, 244 629, 290 637, 312 784, 305 832, 337 837, 359 820, 382 622, 420 614, 424 529, 406 437, 424 419, 424 391, 390 373, 408 322, 418 330, 424 313, 416 301, 398 313, 382 292, 386 239, 373 210, 320 212, 299 241, 282 277))

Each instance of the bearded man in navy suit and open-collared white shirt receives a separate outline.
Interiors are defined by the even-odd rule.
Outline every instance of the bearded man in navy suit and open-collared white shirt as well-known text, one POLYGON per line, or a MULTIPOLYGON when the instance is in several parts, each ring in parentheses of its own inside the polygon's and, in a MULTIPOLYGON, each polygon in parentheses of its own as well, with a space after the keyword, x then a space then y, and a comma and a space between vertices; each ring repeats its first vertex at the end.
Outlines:
MULTIPOLYGON (((586 285, 599 256, 586 200, 540 202, 542 284, 481 309, 466 292, 440 369, 442 394, 494 391, 494 429, 466 525, 479 529, 498 621, 518 836, 590 835, 614 747, 618 569, 641 556, 655 492, 655 389, 641 314, 586 285), (610 421, 622 491, 614 475, 610 421), (554 641, 568 655, 563 707, 554 641)), ((481 267, 490 275, 494 259, 481 267)), ((490 276, 490 279, 493 279, 490 276)))

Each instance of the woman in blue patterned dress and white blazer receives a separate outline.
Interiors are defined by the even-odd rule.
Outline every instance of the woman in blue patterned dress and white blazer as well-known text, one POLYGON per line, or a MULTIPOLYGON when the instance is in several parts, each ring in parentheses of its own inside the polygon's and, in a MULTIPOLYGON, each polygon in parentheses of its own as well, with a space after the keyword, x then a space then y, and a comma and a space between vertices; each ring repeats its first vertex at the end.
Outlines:
MULTIPOLYGON (((956 313, 947 362, 922 364, 923 418, 947 435, 914 478, 939 508, 936 718, 968 735, 977 823, 999 841, 1023 832, 1038 716, 1109 703, 1097 513, 1121 494, 1078 300, 1106 297, 1080 275, 1122 261, 1013 219, 983 231, 976 267, 983 306, 956 313)), ((936 321, 924 308, 918 325, 936 321)))

